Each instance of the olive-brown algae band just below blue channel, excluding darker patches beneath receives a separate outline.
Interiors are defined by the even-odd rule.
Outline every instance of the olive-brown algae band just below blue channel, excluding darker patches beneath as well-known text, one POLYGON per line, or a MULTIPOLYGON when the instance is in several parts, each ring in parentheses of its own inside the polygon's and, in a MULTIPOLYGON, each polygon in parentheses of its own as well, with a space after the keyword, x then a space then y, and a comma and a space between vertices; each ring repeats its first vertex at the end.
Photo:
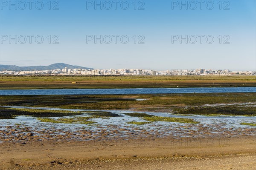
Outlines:
MULTIPOLYGON (((0 96, 0 105, 26 107, 58 107, 63 109, 133 109, 175 110, 205 104, 255 102, 256 93, 189 93, 149 95, 19 95, 0 96), (136 101, 137 98, 147 99, 136 101), (199 100, 200 99, 200 100, 199 100), (93 101, 90 103, 90 101, 93 101)), ((235 108, 236 109, 236 108, 235 108)), ((161 110, 160 110, 161 111, 161 110)), ((175 110, 176 111, 176 110, 175 110)))

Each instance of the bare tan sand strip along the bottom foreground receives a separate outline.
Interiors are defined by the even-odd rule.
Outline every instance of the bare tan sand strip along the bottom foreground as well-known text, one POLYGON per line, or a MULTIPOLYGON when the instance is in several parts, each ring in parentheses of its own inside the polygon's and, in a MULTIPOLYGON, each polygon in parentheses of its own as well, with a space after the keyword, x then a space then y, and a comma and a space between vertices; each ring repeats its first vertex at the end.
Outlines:
POLYGON ((139 138, 38 141, 0 146, 0 169, 10 170, 252 170, 256 138, 139 138))

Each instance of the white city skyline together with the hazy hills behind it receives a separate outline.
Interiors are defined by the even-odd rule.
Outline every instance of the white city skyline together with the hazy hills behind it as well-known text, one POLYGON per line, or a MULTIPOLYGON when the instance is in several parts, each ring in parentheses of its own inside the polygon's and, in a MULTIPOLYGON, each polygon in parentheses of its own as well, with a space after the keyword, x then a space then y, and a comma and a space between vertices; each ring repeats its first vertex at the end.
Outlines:
MULTIPOLYGON (((3 67, 4 65, 1 66, 3 67)), ((55 63, 49 66, 20 67, 16 69, 15 68, 15 66, 10 66, 9 69, 1 68, 0 75, 256 75, 256 71, 230 71, 229 69, 93 69, 81 66, 72 66, 64 63, 55 63), (58 68, 56 68, 56 66, 58 68), (68 68, 67 66, 72 67, 72 69, 68 68), (55 67, 55 69, 50 69, 50 67, 55 67)))

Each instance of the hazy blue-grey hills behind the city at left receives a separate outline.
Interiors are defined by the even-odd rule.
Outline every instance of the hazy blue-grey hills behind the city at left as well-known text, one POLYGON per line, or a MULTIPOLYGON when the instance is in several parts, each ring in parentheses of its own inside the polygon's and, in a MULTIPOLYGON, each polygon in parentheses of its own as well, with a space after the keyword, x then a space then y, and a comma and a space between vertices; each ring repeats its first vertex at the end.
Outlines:
POLYGON ((49 69, 93 69, 82 66, 73 66, 65 63, 55 63, 49 66, 15 66, 15 65, 0 65, 0 70, 17 70, 17 71, 25 71, 25 70, 49 70, 49 69))

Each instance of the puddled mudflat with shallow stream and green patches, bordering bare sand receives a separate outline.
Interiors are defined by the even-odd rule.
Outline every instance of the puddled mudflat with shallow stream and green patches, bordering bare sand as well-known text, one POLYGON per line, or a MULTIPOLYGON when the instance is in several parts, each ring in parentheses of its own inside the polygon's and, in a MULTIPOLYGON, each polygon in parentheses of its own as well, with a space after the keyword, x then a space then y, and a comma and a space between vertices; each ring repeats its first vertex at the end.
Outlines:
MULTIPOLYGON (((19 107, 19 110, 21 108, 35 109, 19 107)), ((79 115, 50 118, 18 115, 14 119, 2 119, 0 126, 2 143, 170 136, 173 138, 255 136, 253 124, 256 124, 256 116, 175 115, 164 112, 135 113, 127 110, 108 110, 102 113, 97 110, 51 109, 58 110, 57 114, 61 111, 64 113, 70 111, 70 114, 78 112, 79 115)), ((42 110, 45 112, 47 108, 42 110)))

